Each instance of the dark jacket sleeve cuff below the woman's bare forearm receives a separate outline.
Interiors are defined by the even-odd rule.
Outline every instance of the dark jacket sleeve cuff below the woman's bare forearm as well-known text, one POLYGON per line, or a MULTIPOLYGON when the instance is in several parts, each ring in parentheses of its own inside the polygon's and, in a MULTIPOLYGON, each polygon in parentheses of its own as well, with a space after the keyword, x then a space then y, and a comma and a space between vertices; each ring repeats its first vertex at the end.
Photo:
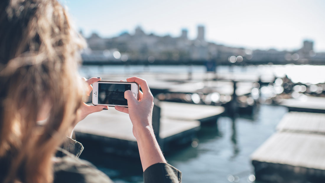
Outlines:
POLYGON ((143 172, 144 183, 181 183, 182 172, 168 163, 156 163, 143 172))

